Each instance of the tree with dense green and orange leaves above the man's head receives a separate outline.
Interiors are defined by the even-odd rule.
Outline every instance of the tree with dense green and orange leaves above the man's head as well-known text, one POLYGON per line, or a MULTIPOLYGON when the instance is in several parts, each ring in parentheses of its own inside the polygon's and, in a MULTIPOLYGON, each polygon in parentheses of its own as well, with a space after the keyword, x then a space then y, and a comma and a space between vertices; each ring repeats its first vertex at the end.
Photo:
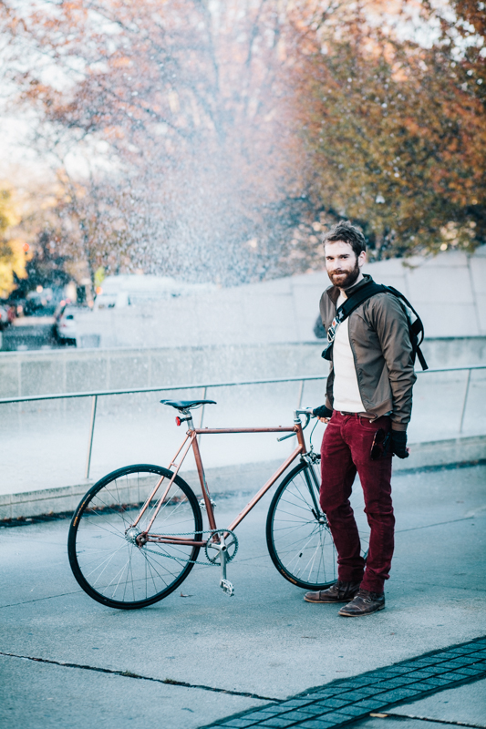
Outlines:
POLYGON ((361 222, 377 258, 485 241, 486 127, 465 82, 470 51, 445 36, 430 48, 398 41, 363 15, 340 31, 346 41, 307 34, 301 55, 310 197, 361 222))

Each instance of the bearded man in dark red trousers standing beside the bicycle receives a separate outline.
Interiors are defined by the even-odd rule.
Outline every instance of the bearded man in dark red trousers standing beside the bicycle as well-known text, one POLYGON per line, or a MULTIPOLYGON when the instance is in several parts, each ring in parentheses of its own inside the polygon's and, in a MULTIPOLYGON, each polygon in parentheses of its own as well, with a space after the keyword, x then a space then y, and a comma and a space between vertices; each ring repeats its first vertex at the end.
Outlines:
POLYGON ((337 550, 338 580, 328 590, 307 592, 305 601, 345 602, 344 617, 369 615, 385 607, 394 547, 391 458, 408 457, 407 426, 416 380, 407 313, 391 293, 367 298, 337 324, 336 310, 371 276, 363 275, 363 232, 343 221, 326 234, 326 270, 332 286, 323 293, 321 317, 334 331, 326 405, 315 415, 327 423, 322 441, 320 492, 337 550), (359 475, 370 528, 367 560, 349 497, 359 475))

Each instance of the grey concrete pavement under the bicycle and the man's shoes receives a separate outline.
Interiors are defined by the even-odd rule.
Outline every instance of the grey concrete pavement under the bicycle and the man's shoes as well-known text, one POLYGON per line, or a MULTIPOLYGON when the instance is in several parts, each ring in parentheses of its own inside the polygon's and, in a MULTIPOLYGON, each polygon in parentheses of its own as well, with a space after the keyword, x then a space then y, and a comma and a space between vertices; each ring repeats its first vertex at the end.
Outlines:
MULTIPOLYGON (((356 621, 305 603, 274 569, 264 539, 270 495, 237 529, 233 598, 217 570, 196 566, 180 590, 142 611, 111 611, 79 590, 67 520, 0 529, 0 723, 196 729, 485 635, 485 478, 484 466, 394 477, 387 609, 356 621)), ((219 498, 218 524, 246 500, 238 491, 219 498)), ((409 707, 404 719, 395 706, 393 718, 367 721, 415 721, 409 707)))

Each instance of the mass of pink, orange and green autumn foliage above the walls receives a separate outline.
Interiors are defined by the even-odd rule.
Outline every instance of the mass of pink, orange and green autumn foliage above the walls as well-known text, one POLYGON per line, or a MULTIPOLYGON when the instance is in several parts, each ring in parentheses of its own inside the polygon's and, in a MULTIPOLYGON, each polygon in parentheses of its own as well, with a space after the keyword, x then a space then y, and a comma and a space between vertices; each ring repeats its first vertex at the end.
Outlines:
POLYGON ((378 258, 483 242, 480 5, 5 3, 18 101, 59 157, 58 240, 91 277, 225 284, 322 267, 341 217, 378 258), (412 7, 432 42, 400 33, 412 7))

